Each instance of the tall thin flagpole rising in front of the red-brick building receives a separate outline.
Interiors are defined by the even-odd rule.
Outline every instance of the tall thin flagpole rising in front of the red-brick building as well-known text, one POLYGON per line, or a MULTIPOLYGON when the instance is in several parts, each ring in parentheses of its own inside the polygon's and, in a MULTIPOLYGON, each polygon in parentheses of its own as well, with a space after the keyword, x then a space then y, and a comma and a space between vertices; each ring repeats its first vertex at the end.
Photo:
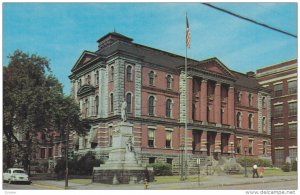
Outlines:
MULTIPOLYGON (((186 19, 187 19, 187 13, 186 19)), ((185 124, 184 124, 184 161, 185 179, 187 179, 187 120, 188 120, 188 81, 187 81, 187 44, 185 44, 185 124)))

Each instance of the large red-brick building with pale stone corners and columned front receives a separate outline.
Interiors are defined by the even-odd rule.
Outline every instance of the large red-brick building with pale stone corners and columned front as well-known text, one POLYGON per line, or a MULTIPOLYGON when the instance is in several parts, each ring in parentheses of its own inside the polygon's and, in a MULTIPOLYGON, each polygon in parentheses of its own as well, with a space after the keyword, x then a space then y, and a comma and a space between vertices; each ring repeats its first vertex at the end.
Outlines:
MULTIPOLYGON (((78 154, 107 157, 123 98, 134 124, 134 146, 144 163, 168 162, 178 171, 185 122, 185 58, 108 33, 96 52, 84 51, 72 68, 71 94, 92 128, 70 136, 78 154)), ((228 69, 217 58, 188 59, 188 159, 235 154, 270 158, 270 96, 253 72, 228 69), (264 100, 264 102, 263 102, 264 100)))

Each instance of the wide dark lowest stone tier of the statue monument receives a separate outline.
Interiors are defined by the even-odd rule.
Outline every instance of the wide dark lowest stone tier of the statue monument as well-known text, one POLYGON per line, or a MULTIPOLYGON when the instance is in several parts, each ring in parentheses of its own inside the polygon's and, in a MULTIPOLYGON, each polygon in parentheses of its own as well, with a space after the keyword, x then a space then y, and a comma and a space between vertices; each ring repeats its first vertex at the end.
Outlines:
POLYGON ((93 182, 104 184, 133 184, 143 183, 154 180, 153 169, 130 169, 130 170, 95 170, 93 173, 93 182))

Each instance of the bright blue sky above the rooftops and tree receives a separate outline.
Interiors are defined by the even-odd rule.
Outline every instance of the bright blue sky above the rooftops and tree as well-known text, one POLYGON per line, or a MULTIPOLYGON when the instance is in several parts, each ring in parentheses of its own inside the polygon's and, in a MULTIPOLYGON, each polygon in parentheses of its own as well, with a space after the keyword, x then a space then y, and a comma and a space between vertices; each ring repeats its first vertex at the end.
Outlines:
MULTIPOLYGON (((297 35, 297 3, 211 3, 297 35)), ((116 31, 138 44, 185 56, 185 15, 191 33, 189 58, 217 57, 246 73, 297 58, 297 38, 255 25, 201 3, 3 3, 2 61, 17 49, 50 61, 70 94, 68 76, 84 50, 116 31)))

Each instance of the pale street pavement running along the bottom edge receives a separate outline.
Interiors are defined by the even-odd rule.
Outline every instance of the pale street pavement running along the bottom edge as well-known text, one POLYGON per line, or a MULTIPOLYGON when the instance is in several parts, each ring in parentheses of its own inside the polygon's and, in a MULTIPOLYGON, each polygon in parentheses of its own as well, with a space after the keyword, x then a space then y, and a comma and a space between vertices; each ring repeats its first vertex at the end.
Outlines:
MULTIPOLYGON (((54 185, 55 181, 33 181, 31 185, 23 184, 3 184, 3 190, 64 190, 63 185, 54 185)), ((170 184, 151 184, 149 189, 153 190, 297 190, 297 180, 260 182, 253 184, 230 184, 215 185, 208 187, 205 185, 197 186, 192 183, 170 183, 170 184), (190 187, 188 187, 190 186, 190 187)), ((70 190, 144 190, 144 185, 105 185, 105 184, 74 184, 70 183, 70 190)))

